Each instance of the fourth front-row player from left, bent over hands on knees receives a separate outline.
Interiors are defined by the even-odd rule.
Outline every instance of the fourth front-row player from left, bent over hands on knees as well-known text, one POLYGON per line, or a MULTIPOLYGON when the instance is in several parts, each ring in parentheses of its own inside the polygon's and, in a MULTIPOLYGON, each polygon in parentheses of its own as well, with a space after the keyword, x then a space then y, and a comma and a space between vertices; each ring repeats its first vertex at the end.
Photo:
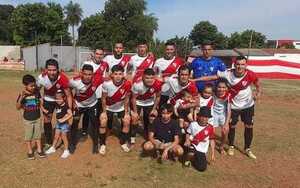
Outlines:
POLYGON ((155 78, 155 72, 151 68, 144 70, 142 80, 135 82, 132 86, 131 106, 132 106, 132 126, 131 143, 135 143, 136 129, 143 110, 144 131, 148 137, 148 126, 151 118, 157 117, 158 105, 161 94, 162 82, 155 78))

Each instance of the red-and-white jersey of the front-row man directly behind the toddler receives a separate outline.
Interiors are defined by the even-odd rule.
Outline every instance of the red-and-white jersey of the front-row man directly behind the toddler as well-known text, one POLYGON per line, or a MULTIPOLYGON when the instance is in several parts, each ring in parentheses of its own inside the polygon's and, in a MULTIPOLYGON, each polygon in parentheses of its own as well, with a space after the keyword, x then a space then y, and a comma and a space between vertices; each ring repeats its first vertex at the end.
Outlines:
POLYGON ((176 100, 182 98, 183 90, 188 91, 193 97, 198 96, 198 89, 195 82, 189 81, 185 86, 180 85, 178 76, 172 75, 164 84, 164 91, 169 94, 169 102, 175 105, 176 100))

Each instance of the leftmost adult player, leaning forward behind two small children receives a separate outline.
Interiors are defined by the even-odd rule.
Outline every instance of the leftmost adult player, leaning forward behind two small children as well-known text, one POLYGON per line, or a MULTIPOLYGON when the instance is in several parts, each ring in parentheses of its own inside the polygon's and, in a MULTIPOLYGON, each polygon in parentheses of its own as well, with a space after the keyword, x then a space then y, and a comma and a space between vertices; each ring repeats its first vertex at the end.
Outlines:
POLYGON ((46 141, 46 149, 52 145, 52 115, 55 109, 55 93, 58 89, 64 91, 67 104, 72 109, 72 94, 69 88, 69 79, 59 71, 58 62, 55 59, 46 61, 45 70, 38 76, 37 86, 44 88, 43 107, 44 107, 44 134, 46 141))

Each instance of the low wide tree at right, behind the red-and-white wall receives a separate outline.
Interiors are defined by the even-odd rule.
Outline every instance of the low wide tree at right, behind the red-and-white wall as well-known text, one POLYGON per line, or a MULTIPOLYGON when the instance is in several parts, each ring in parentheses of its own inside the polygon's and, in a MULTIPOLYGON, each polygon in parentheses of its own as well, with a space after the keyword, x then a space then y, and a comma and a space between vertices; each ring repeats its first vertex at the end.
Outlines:
POLYGON ((266 47, 266 36, 254 30, 245 30, 241 33, 234 32, 228 38, 229 48, 264 48, 266 47), (252 40, 251 40, 252 35, 252 40), (251 40, 251 46, 250 46, 251 40))

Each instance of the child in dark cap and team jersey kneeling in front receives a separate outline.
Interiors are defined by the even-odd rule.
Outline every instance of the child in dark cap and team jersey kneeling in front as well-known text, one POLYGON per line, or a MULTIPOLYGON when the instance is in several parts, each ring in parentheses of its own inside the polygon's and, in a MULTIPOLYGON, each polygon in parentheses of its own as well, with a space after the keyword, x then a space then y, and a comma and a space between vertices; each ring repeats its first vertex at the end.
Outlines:
POLYGON ((211 146, 211 160, 215 160, 215 140, 214 128, 208 123, 211 117, 211 111, 208 107, 201 107, 197 114, 197 122, 192 122, 187 129, 186 141, 184 146, 188 150, 188 160, 185 165, 190 165, 192 160, 193 166, 200 172, 207 168, 206 153, 209 144, 211 146))

